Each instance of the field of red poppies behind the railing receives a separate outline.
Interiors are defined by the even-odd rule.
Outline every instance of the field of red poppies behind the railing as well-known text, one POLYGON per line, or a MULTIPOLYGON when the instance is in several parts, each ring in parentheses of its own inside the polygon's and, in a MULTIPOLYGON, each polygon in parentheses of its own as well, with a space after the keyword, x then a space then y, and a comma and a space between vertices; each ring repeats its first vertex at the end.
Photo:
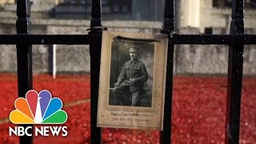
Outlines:
MULTIPOLYGON (((0 144, 9 136, 9 114, 18 98, 17 76, 0 74, 0 144)), ((36 137, 34 143, 90 143, 90 75, 34 75, 34 90, 50 90, 68 114, 68 136, 36 137)), ((224 143, 226 77, 174 77, 172 142, 224 143)), ((103 143, 158 143, 156 130, 103 129, 103 143)), ((243 78, 240 143, 256 143, 256 78, 243 78)))

